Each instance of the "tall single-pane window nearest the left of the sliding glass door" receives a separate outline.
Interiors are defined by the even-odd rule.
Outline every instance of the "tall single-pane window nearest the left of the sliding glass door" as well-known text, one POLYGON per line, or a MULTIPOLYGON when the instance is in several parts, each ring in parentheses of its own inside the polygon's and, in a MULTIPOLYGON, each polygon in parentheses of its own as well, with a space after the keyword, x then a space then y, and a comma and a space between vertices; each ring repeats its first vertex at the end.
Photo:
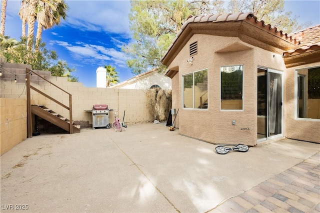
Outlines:
POLYGON ((221 109, 242 109, 243 65, 221 66, 221 109))

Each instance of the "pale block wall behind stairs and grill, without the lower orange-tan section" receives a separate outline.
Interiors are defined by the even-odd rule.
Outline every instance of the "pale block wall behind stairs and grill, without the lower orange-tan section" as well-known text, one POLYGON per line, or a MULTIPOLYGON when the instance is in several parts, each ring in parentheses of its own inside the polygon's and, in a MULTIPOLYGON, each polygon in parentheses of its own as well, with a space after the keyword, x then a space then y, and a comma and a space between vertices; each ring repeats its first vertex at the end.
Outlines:
MULTIPOLYGON (((7 70, 3 71, 1 76, 1 97, 26 99, 25 91, 25 64, 2 63, 1 66, 7 70), (19 73, 17 83, 14 83, 14 74, 19 73), (13 78, 13 79, 12 79, 13 78)), ((152 121, 146 108, 146 96, 142 89, 121 89, 121 88, 96 88, 84 87, 80 82, 69 82, 66 77, 50 76, 50 72, 35 70, 44 78, 48 79, 63 90, 72 95, 72 117, 74 121, 81 123, 88 122, 92 124, 92 114, 87 112, 91 110, 94 104, 107 104, 109 108, 117 110, 120 120, 123 118, 125 110, 125 119, 127 123, 139 123, 152 121)), ((39 78, 35 74, 31 76, 31 85, 50 95, 54 99, 69 106, 68 94, 56 88, 47 81, 39 78)), ((45 105, 62 116, 69 117, 69 111, 56 104, 54 101, 38 94, 31 89, 31 103, 45 105)), ((114 120, 114 115, 109 114, 109 122, 114 120)))

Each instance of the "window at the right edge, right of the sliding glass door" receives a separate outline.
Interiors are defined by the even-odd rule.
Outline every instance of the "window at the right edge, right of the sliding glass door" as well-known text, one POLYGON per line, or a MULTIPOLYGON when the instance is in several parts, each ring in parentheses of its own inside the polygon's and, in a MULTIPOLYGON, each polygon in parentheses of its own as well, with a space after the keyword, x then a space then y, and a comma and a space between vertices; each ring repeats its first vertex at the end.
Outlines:
POLYGON ((297 116, 320 119, 320 67, 297 70, 297 116))

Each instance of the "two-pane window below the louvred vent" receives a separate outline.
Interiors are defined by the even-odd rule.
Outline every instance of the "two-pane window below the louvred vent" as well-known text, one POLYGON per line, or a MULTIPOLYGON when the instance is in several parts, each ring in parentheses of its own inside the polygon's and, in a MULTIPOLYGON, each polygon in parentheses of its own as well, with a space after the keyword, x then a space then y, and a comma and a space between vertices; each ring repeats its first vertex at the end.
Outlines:
POLYGON ((207 78, 207 69, 182 76, 184 108, 208 107, 207 78))

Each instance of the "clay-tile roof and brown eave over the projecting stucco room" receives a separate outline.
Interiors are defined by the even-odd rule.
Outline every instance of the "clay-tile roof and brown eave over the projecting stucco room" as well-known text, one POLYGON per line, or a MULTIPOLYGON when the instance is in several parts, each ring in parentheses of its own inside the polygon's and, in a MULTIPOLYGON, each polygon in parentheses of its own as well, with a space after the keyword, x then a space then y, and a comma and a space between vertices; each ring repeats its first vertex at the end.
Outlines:
MULTIPOLYGON (((273 50, 278 53, 282 51, 287 51, 294 48, 299 41, 296 37, 290 36, 287 33, 283 33, 282 30, 277 30, 276 27, 272 27, 270 24, 265 24, 263 20, 257 20, 257 17, 254 16, 252 12, 238 12, 238 13, 227 13, 227 14, 215 14, 215 15, 200 15, 192 16, 190 15, 188 19, 183 23, 180 31, 177 33, 172 43, 168 47, 168 50, 164 53, 164 56, 161 58, 161 62, 165 65, 168 65, 172 61, 172 50, 179 51, 179 45, 185 44, 192 34, 214 34, 219 36, 238 36, 244 42, 251 42, 250 44, 259 46, 261 48, 268 48, 264 44, 274 45, 274 36, 279 38, 281 41, 276 41, 276 48, 269 48, 267 50, 273 50), (235 24, 237 22, 237 24, 235 24), (241 22, 248 23, 247 25, 241 24, 241 22), (228 23, 229 26, 222 26, 221 24, 228 23), (250 27, 253 31, 248 31, 250 27), (268 34, 265 36, 260 36, 258 31, 255 31, 255 28, 259 28, 268 34), (185 35, 190 34, 190 35, 185 35), (252 40, 247 40, 247 36, 251 37, 252 40), (181 38, 182 37, 182 38, 181 38), (283 42, 284 41, 284 42, 283 42), (279 51, 281 50, 281 51, 279 51)), ((181 47, 180 47, 181 48, 181 47)))

